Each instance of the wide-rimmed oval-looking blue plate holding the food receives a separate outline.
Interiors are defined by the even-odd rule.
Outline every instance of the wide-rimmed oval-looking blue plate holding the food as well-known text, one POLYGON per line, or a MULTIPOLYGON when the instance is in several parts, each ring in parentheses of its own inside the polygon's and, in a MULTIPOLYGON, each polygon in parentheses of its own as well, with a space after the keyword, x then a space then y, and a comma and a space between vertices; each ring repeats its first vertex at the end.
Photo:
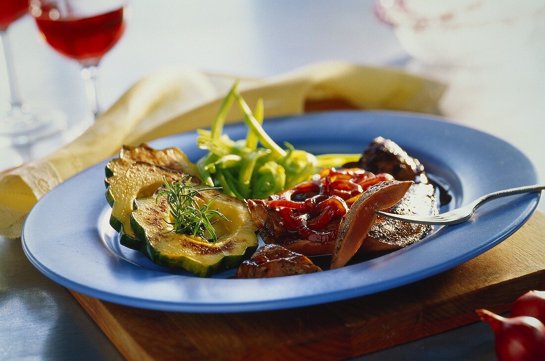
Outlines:
MULTIPOLYGON (((428 115, 392 112, 329 112, 265 121, 277 142, 315 154, 361 152, 377 136, 390 138, 419 158, 450 186, 458 207, 499 189, 537 183, 528 158, 512 145, 428 115)), ((244 138, 237 124, 225 131, 244 138)), ((178 146, 195 161, 197 134, 151 142, 178 146)), ((193 277, 154 265, 119 246, 108 225, 104 167, 96 164, 62 183, 32 209, 22 232, 28 259, 52 280, 77 292, 133 307, 184 312, 272 310, 325 303, 384 291, 461 264, 516 231, 535 210, 538 193, 512 195, 482 206, 468 222, 435 229, 424 240, 370 261, 300 276, 270 279, 193 277)))

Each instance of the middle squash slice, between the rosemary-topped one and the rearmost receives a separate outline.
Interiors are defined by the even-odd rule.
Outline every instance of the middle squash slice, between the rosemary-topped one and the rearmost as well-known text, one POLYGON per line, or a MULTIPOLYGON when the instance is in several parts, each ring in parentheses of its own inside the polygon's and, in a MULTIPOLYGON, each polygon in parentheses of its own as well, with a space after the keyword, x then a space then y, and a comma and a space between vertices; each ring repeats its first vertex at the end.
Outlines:
POLYGON ((125 247, 140 250, 143 242, 136 237, 131 227, 131 211, 137 197, 149 197, 167 181, 177 181, 184 173, 155 166, 154 164, 136 162, 125 174, 106 189, 106 199, 112 206, 110 225, 119 232, 119 242, 125 247))

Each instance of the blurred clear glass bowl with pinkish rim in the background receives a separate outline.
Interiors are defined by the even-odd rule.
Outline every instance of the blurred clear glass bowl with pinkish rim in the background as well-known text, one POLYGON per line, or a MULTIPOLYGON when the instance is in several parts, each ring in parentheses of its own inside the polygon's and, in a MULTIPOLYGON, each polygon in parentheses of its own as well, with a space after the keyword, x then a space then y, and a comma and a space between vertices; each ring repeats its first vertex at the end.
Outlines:
POLYGON ((545 0, 378 0, 374 10, 412 57, 445 68, 501 62, 545 23, 545 0))

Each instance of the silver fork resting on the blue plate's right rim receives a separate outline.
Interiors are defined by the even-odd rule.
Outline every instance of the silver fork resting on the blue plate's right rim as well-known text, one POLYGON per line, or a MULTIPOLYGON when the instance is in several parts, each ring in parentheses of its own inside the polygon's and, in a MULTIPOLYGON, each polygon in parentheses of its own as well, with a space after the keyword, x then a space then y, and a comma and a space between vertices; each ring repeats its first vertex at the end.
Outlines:
POLYGON ((534 185, 518 188, 505 189, 505 191, 493 192, 490 194, 485 194, 480 198, 475 199, 473 202, 467 206, 457 208, 455 210, 442 213, 435 216, 403 216, 403 215, 394 215, 393 213, 387 213, 383 211, 377 211, 377 215, 397 219, 398 221, 410 222, 410 223, 420 223, 420 224, 433 224, 433 225, 448 225, 448 224, 457 224, 467 221, 473 212, 480 207, 483 203, 486 203, 490 199, 504 197, 505 195, 525 193, 525 192, 537 192, 543 191, 545 185, 534 185))

